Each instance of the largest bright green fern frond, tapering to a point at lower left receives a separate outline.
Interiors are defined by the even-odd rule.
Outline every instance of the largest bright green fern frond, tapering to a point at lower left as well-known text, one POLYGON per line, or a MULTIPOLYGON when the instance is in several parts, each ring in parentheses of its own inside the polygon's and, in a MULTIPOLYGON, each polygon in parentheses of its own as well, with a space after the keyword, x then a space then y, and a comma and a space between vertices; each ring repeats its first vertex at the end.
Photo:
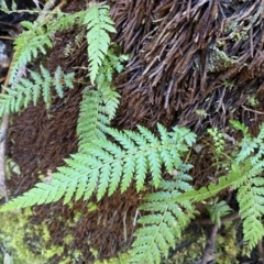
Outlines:
MULTIPOLYGON (((140 191, 147 173, 152 174, 151 184, 157 187, 162 180, 161 167, 164 165, 167 170, 170 170, 172 166, 167 167, 167 163, 175 168, 179 167, 180 160, 175 156, 179 157, 196 136, 184 129, 186 138, 189 139, 187 143, 185 139, 180 142, 175 141, 178 138, 177 134, 182 132, 179 128, 174 132, 166 132, 166 136, 163 136, 166 140, 156 138, 142 127, 139 127, 139 130, 140 132, 136 133, 109 129, 108 134, 117 143, 98 140, 95 145, 87 146, 85 153, 67 158, 65 161, 67 166, 58 167, 58 172, 53 174, 51 184, 37 184, 23 196, 4 205, 1 210, 52 202, 63 196, 64 204, 67 204, 74 195, 76 199, 81 197, 89 199, 94 193, 100 200, 107 194, 112 195, 119 186, 121 191, 127 190, 132 180, 135 182, 136 189, 140 191), (186 148, 183 148, 183 145, 186 148), (143 161, 140 161, 142 157, 143 161)), ((158 124, 158 131, 165 135, 165 129, 161 124, 158 124)))

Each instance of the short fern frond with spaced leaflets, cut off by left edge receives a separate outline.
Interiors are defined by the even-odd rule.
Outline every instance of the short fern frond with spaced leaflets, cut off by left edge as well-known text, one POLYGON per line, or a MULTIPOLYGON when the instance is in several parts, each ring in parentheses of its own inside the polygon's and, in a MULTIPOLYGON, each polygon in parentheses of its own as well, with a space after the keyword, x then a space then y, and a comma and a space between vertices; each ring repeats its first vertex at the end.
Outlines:
POLYGON ((48 107, 52 100, 51 89, 53 87, 55 87, 59 97, 63 96, 64 87, 70 89, 74 87, 74 74, 65 75, 61 67, 56 69, 54 77, 43 66, 41 66, 42 75, 31 70, 30 74, 31 80, 21 78, 19 82, 13 82, 13 89, 3 87, 6 94, 0 95, 0 116, 19 112, 21 109, 29 107, 32 101, 35 106, 41 96, 48 107))

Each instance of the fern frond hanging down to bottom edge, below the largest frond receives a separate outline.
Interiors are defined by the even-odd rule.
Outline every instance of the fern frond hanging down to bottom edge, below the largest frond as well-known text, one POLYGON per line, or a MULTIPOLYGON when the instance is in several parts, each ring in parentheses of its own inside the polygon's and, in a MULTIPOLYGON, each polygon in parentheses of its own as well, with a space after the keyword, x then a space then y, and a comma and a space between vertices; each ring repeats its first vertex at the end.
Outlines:
POLYGON ((140 207, 148 215, 140 218, 142 228, 135 232, 136 240, 132 244, 132 263, 161 263, 161 257, 168 255, 176 239, 190 222, 195 209, 191 201, 175 202, 182 191, 188 191, 191 177, 185 173, 191 166, 182 165, 175 170, 173 180, 162 180, 160 191, 145 197, 145 204, 140 207))

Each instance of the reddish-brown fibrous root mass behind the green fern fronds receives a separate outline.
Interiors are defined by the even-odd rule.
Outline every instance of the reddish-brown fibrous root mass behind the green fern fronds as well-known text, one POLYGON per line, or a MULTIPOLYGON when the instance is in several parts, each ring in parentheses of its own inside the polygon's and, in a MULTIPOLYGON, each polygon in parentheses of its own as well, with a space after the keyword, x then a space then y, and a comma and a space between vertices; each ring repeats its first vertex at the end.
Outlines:
MULTIPOLYGON (((264 34, 263 6, 254 1, 123 1, 109 0, 116 22, 113 41, 120 52, 130 54, 125 70, 114 79, 121 105, 112 125, 135 129, 145 125, 155 132, 157 122, 166 128, 186 125, 198 133, 199 143, 207 141, 206 130, 218 127, 229 131, 229 120, 237 119, 258 132, 264 120, 264 34), (238 24, 235 32, 233 28, 238 24), (249 98, 257 100, 252 106, 249 98)), ((85 8, 85 1, 73 0, 65 12, 85 8)), ((65 55, 80 29, 62 32, 46 57, 46 67, 54 72, 61 65, 75 72, 84 82, 87 67, 85 41, 65 55)), ((12 117, 8 155, 20 166, 21 174, 8 180, 11 196, 32 188, 40 174, 47 174, 64 164, 77 151, 76 123, 81 90, 76 85, 63 99, 54 97, 50 109, 43 102, 12 117)), ((239 134, 233 135, 239 140, 239 134)), ((191 175, 195 186, 208 185, 215 175, 211 151, 206 146, 191 152, 191 175)), ((221 198, 230 194, 221 194, 221 198)), ((123 194, 102 199, 97 210, 90 202, 73 206, 62 202, 34 208, 33 223, 46 222, 51 243, 64 244, 65 255, 79 250, 82 262, 92 261, 92 250, 100 258, 125 252, 132 243, 141 196, 133 186, 123 194), (76 223, 75 213, 81 218, 76 223), (59 217, 58 217, 59 216, 59 217), (67 221, 66 221, 67 220, 67 221), (69 222, 75 222, 68 227, 69 222), (88 244, 89 242, 89 244, 88 244)), ((50 263, 58 263, 59 257, 50 263)), ((81 262, 80 262, 81 263, 81 262)))

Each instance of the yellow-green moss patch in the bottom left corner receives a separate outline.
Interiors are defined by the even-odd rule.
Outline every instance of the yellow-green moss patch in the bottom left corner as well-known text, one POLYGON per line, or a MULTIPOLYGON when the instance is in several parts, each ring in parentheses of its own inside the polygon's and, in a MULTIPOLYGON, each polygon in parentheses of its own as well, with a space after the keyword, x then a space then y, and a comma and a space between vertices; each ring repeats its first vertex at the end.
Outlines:
POLYGON ((45 222, 31 223, 31 216, 32 211, 29 208, 0 215, 0 245, 2 248, 0 263, 3 263, 4 254, 13 257, 15 264, 50 264, 54 263, 51 260, 56 257, 62 260, 59 264, 78 263, 78 260, 81 260, 82 254, 79 251, 69 251, 65 255, 65 245, 74 242, 72 234, 64 238, 64 245, 51 245, 48 226, 45 222))

